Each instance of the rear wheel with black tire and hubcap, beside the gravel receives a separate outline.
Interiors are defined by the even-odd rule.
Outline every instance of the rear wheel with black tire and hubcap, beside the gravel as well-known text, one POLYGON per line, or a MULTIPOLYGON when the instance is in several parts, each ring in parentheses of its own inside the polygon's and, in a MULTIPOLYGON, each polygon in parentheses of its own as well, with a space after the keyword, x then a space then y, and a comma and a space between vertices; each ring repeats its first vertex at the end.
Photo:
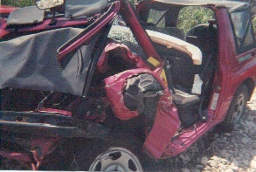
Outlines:
POLYGON ((225 120, 219 125, 219 127, 221 127, 224 132, 231 132, 234 125, 239 122, 242 115, 246 111, 246 103, 248 99, 249 91, 247 86, 239 86, 239 89, 237 90, 232 99, 232 103, 225 116, 225 120), (237 118, 234 117, 236 113, 239 114, 237 118))

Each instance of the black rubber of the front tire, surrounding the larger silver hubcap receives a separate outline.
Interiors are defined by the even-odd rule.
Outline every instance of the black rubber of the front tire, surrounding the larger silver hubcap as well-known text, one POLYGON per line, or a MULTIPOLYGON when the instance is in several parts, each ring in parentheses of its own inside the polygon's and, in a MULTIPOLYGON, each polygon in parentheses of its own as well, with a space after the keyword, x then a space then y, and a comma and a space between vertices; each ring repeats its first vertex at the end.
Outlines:
MULTIPOLYGON (((139 161, 142 158, 142 142, 138 141, 133 134, 124 134, 115 132, 110 134, 105 140, 88 140, 77 149, 75 155, 75 166, 73 170, 86 170, 96 160, 99 155, 111 150, 111 148, 125 148, 128 149, 139 161), (75 168, 74 168, 75 167, 75 168)), ((142 163, 141 163, 142 164, 142 163)), ((140 170, 142 171, 142 170, 140 170)))

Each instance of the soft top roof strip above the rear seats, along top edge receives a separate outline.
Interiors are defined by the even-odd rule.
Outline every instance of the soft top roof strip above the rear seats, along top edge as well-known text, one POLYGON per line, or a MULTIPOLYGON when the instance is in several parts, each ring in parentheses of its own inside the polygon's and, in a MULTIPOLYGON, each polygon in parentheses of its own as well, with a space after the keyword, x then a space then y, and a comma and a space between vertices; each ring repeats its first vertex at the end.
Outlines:
POLYGON ((182 6, 207 6, 214 5, 218 7, 225 7, 230 12, 246 10, 250 4, 234 1, 223 1, 223 0, 152 0, 159 3, 170 3, 182 6))

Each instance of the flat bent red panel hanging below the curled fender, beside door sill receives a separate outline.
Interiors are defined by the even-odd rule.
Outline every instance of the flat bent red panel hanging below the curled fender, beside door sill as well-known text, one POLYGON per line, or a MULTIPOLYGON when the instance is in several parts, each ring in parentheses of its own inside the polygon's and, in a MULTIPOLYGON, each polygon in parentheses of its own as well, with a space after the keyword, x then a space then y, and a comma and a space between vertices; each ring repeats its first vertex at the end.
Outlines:
POLYGON ((160 98, 155 118, 154 126, 150 130, 143 146, 149 155, 160 159, 163 152, 168 148, 171 138, 180 127, 177 109, 171 101, 170 92, 165 91, 160 98))

